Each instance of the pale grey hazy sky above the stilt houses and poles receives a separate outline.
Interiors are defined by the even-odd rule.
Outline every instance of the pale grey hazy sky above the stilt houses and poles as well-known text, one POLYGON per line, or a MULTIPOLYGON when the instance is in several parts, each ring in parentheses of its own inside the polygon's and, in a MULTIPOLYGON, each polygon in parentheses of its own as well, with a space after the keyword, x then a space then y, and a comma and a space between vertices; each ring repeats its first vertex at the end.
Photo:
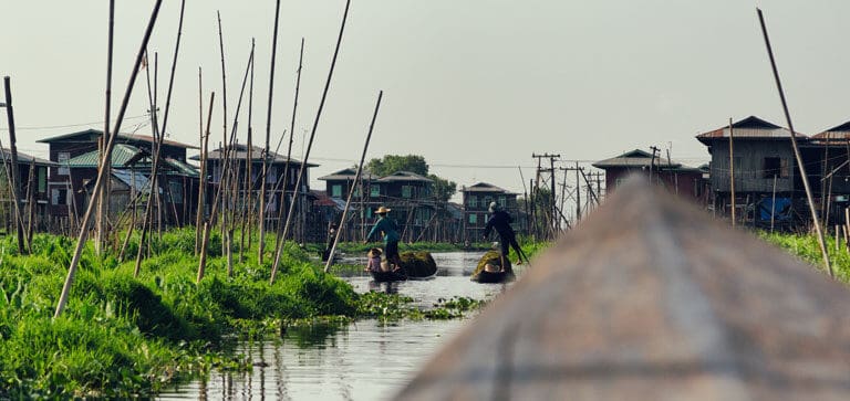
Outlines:
MULTIPOLYGON (((117 1, 113 118, 153 4, 117 1)), ((179 4, 164 1, 148 46, 158 54, 160 110, 179 4)), ((290 126, 304 38, 298 159, 313 127, 344 6, 344 0, 281 1, 271 143, 290 126)), ((535 175, 532 154, 543 152, 560 155, 559 166, 579 161, 588 171, 592 161, 651 146, 686 165, 704 163, 709 156, 694 136, 729 118, 756 115, 787 125, 757 6, 765 12, 795 128, 817 134, 850 120, 846 0, 353 0, 311 150, 310 161, 321 165, 311 171, 311 186, 322 189, 315 178, 360 159, 379 91, 384 98, 367 158, 422 155, 432 172, 458 187, 486 181, 521 193, 524 179, 535 175)), ((105 0, 0 0, 0 75, 11 77, 21 151, 44 157, 48 148, 39 139, 103 128, 107 10, 105 0)), ((199 143, 199 67, 205 109, 216 92, 210 144, 224 135, 217 11, 228 126, 253 38, 251 125, 262 140, 273 0, 186 1, 168 138, 199 143)), ((153 70, 153 61, 148 65, 153 70)), ((149 134, 147 109, 143 74, 122 131, 149 134)), ((7 128, 0 118, 4 145, 7 128)))

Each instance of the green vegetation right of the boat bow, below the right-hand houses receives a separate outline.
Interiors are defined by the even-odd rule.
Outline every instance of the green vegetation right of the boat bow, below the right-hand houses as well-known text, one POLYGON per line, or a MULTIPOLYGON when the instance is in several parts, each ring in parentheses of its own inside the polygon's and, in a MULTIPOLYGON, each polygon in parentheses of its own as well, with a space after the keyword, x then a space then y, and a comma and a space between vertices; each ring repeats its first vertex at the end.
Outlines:
MULTIPOLYGON (((823 256, 820 253, 820 245, 818 245, 818 238, 816 235, 759 232, 758 236, 788 251, 804 262, 826 271, 823 256)), ((827 236, 826 240, 836 278, 850 284, 850 253, 843 249, 843 243, 842 249, 836 252, 835 238, 827 236)))

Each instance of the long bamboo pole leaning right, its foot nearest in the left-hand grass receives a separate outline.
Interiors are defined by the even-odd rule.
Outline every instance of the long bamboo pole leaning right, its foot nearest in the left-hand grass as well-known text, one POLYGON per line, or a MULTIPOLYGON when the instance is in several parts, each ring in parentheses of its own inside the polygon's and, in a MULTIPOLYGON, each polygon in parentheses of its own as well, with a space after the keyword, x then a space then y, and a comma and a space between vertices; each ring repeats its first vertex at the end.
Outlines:
MULTIPOLYGON (((156 4, 154 6, 154 10, 151 14, 151 20, 147 24, 147 28, 145 30, 144 39, 142 40, 142 45, 139 46, 139 50, 136 54, 136 61, 133 65, 133 72, 129 75, 129 83, 127 85, 127 91, 124 95, 124 101, 122 102, 121 108, 118 109, 118 116, 115 120, 115 129, 113 129, 113 133, 120 133, 121 131, 121 124, 124 120, 124 114, 127 110, 127 105, 129 104, 129 97, 133 93, 133 86, 136 82, 136 76, 138 75, 138 68, 142 65, 142 59, 145 54, 145 48, 147 48, 147 42, 151 40, 151 33, 154 30, 154 24, 156 23, 156 18, 159 13, 159 7, 163 4, 163 0, 157 0, 156 4)), ((110 137, 110 143, 106 146, 106 152, 104 155, 104 160, 101 163, 101 168, 99 169, 100 172, 97 173, 97 180, 94 183, 94 193, 99 194, 100 191, 103 188, 104 182, 104 163, 112 158, 112 149, 115 146, 115 138, 117 135, 113 135, 110 137)), ((90 202, 89 207, 86 208, 85 215, 83 217, 82 225, 80 226, 80 235, 76 240, 76 247, 74 249, 74 256, 71 258, 71 265, 68 267, 68 277, 65 278, 65 284, 62 287, 62 294, 59 297, 59 303, 56 304, 56 310, 53 315, 54 317, 59 317, 62 315, 62 312, 65 309, 65 305, 68 304, 68 297, 71 293, 71 285, 74 282, 74 274, 76 273, 76 266, 80 263, 80 256, 83 252, 83 246, 85 245, 86 234, 87 234, 87 226, 89 222, 92 218, 92 211, 94 210, 94 203, 90 202)))

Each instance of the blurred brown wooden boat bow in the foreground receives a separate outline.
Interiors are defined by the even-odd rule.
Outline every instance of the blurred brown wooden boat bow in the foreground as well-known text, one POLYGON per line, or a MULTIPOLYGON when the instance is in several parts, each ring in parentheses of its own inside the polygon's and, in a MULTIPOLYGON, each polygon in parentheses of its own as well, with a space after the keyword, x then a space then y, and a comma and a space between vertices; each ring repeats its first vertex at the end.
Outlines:
POLYGON ((847 400, 847 288, 639 180, 400 400, 847 400))

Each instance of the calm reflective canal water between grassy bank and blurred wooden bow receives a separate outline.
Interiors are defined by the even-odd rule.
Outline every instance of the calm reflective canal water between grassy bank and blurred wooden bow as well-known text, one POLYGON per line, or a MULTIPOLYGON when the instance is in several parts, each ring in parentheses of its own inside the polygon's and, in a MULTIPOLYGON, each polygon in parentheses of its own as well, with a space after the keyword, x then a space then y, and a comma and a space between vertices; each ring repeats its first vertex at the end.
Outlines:
MULTIPOLYGON (((490 299, 501 284, 469 281, 480 252, 435 253, 439 272, 428 281, 374 283, 359 274, 344 277, 355 291, 395 292, 421 307, 440 298, 490 299)), ((344 263, 365 264, 365 258, 344 263)), ((251 372, 214 371, 164 392, 160 400, 385 400, 413 376, 468 319, 398 321, 359 320, 348 327, 288 330, 281 338, 242 344, 238 351, 255 363, 251 372)))

